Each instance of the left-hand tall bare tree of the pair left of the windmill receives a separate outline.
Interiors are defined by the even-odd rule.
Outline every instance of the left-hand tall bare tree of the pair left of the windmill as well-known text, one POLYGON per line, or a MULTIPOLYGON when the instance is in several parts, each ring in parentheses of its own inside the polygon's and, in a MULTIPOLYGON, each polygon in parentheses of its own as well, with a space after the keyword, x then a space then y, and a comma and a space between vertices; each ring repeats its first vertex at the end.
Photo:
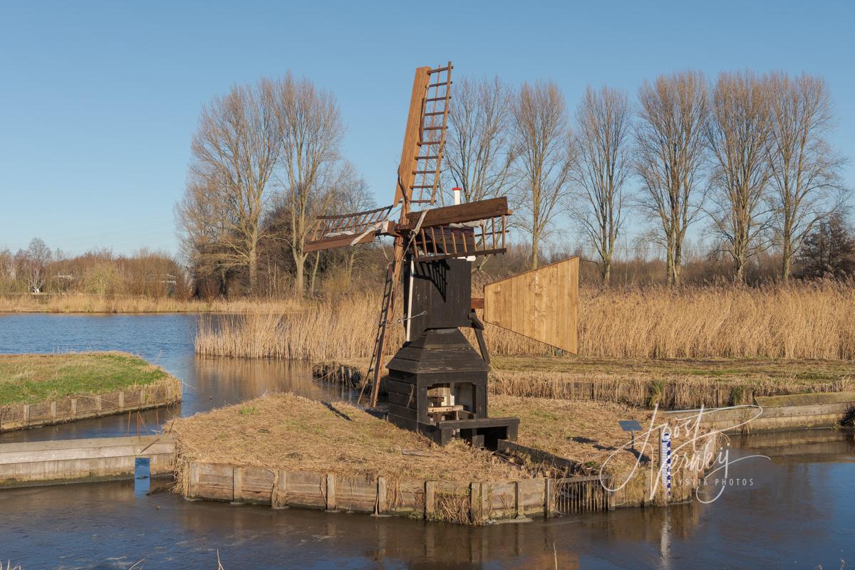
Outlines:
POLYGON ((281 148, 274 84, 235 86, 202 110, 176 217, 197 257, 246 267, 256 292, 261 218, 281 148))

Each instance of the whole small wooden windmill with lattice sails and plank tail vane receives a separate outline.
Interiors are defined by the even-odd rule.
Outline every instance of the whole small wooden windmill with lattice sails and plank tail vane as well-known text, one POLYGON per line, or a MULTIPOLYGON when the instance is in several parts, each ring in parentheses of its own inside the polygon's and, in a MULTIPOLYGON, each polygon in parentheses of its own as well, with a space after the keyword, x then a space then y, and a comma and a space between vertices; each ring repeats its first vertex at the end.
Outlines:
MULTIPOLYGON (((386 269, 369 368, 373 377, 371 406, 377 404, 386 328, 394 311, 398 282, 403 278, 406 342, 386 366, 389 420, 439 444, 459 437, 495 449, 498 439, 516 439, 519 420, 487 416, 489 356, 484 326, 473 307, 470 262, 475 256, 504 253, 505 223, 511 212, 504 197, 430 207, 439 189, 452 69, 451 61, 442 67, 416 69, 392 205, 322 216, 305 251, 354 246, 378 236, 394 237, 394 255, 386 269), (414 210, 414 206, 423 209, 414 210), (398 220, 394 221, 393 210, 398 207, 398 220), (475 329, 480 353, 460 331, 467 327, 475 329)), ((563 264, 566 269, 558 273, 554 267, 550 270, 547 282, 572 274, 570 293, 575 293, 576 260, 563 264)), ((486 320, 575 352, 575 297, 573 303, 559 302, 564 309, 558 307, 556 311, 556 292, 566 293, 568 289, 539 289, 537 283, 544 282, 541 275, 523 274, 488 286, 485 300, 492 312, 485 311, 490 316, 486 320), (534 296, 526 288, 534 291, 534 296), (533 314, 540 311, 545 316, 545 327, 524 323, 526 319, 516 309, 521 304, 512 300, 516 296, 519 301, 521 294, 527 295, 533 314), (570 313, 572 319, 565 318, 570 313), (561 323, 555 324, 557 320, 561 323), (555 334, 570 325, 572 343, 567 341, 568 334, 560 338, 555 334)))

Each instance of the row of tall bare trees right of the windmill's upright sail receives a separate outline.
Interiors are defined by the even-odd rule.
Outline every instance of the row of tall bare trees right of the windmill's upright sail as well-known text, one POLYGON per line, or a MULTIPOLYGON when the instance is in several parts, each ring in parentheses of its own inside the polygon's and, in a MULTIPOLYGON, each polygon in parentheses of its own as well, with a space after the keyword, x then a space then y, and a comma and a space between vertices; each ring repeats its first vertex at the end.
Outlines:
MULTIPOLYGON (((709 224, 744 280, 748 259, 776 245, 781 279, 805 236, 845 201, 844 160, 828 143, 828 85, 808 74, 693 71, 645 82, 633 104, 587 88, 572 118, 557 85, 512 89, 463 79, 451 115, 448 182, 468 201, 508 195, 531 238, 530 266, 555 222, 568 218, 609 282, 632 213, 681 282, 690 226, 709 224)), ((449 184, 446 184, 446 186, 449 184)))

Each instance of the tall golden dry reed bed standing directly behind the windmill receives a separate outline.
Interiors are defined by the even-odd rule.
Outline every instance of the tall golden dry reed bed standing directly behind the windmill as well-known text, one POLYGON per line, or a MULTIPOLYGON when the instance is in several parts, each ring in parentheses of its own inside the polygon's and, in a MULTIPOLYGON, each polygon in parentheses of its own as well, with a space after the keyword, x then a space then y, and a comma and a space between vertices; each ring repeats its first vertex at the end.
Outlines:
MULTIPOLYGON (((207 356, 351 359, 370 356, 380 300, 354 294, 301 311, 269 307, 217 327, 203 323, 207 356)), ((400 318, 400 315, 397 316, 400 318)), ((855 288, 583 288, 580 354, 599 358, 855 358, 855 288)), ((403 342, 392 323, 386 346, 403 342)), ((544 356, 553 349, 487 325, 493 354, 544 356)))

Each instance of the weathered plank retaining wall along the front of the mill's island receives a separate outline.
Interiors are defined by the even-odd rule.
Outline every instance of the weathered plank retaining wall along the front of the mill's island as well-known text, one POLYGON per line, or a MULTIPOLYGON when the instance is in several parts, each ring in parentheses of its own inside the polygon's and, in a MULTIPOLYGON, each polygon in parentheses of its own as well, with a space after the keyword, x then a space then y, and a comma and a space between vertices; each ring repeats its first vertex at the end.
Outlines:
POLYGON ((269 504, 274 509, 302 507, 478 525, 614 507, 598 477, 387 480, 206 462, 191 462, 186 470, 187 498, 269 504))

